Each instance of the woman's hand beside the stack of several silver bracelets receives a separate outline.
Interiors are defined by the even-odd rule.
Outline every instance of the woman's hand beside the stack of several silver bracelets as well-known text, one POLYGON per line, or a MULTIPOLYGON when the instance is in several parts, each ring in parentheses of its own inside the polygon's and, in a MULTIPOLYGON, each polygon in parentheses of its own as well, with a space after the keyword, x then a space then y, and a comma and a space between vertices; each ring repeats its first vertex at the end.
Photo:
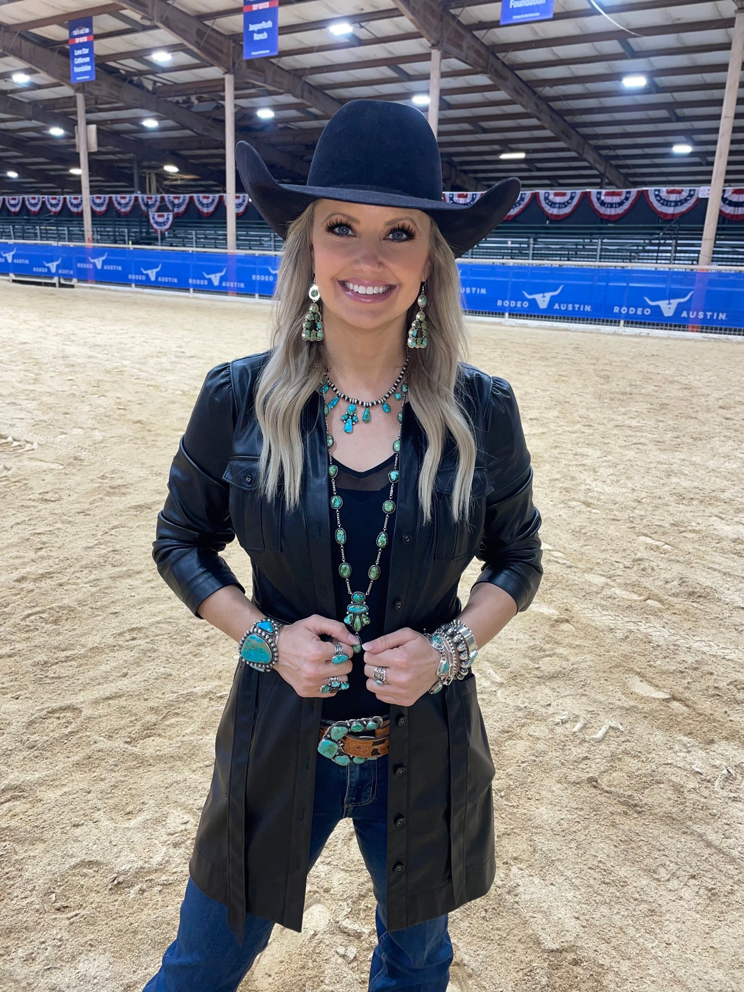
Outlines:
POLYGON ((439 653, 423 634, 410 627, 383 634, 362 647, 367 688, 381 702, 411 706, 436 682, 439 653), (378 667, 387 670, 383 685, 372 678, 378 667))

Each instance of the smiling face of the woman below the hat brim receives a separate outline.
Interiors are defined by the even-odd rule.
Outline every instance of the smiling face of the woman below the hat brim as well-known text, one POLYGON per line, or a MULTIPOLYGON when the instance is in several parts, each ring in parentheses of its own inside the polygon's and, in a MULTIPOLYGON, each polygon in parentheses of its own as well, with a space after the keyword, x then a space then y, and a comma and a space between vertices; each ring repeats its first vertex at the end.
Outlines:
POLYGON ((357 328, 402 323, 429 275, 431 224, 409 207, 317 200, 312 255, 324 315, 357 328))

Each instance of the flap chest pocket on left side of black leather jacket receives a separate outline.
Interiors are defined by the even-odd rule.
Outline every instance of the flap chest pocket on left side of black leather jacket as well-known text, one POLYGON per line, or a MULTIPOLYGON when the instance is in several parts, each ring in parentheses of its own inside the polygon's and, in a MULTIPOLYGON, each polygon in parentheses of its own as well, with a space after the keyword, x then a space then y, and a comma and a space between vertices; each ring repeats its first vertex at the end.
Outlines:
POLYGON ((227 462, 222 478, 230 484, 230 519, 247 552, 281 552, 281 497, 269 502, 258 489, 258 455, 239 455, 227 462))

